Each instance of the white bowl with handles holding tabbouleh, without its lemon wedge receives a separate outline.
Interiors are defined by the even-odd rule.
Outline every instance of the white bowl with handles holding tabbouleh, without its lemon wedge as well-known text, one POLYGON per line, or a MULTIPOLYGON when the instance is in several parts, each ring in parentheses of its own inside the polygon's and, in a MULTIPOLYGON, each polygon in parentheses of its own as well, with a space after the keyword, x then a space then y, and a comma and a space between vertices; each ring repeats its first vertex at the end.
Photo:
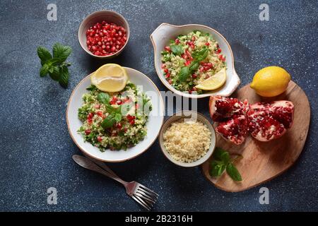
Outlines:
POLYGON ((163 23, 151 34, 155 69, 172 92, 184 97, 231 95, 240 78, 234 69, 230 45, 219 32, 204 25, 163 23), (196 88, 199 83, 226 70, 226 82, 216 90, 196 88))

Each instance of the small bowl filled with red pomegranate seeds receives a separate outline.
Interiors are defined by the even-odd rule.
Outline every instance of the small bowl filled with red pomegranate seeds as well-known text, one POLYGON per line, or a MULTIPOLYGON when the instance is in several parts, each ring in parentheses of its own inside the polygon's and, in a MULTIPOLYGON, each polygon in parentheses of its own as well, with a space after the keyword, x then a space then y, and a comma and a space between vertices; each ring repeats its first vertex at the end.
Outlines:
POLYGON ((114 11, 96 11, 78 28, 78 42, 91 56, 110 58, 119 55, 129 40, 127 20, 114 11))

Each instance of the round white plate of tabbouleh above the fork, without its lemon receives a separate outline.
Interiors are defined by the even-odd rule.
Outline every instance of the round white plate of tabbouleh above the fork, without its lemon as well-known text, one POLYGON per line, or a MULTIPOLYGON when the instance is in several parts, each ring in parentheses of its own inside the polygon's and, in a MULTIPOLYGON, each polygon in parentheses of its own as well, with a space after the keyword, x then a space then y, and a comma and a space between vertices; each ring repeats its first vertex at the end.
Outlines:
POLYGON ((87 76, 73 90, 66 110, 69 133, 78 148, 105 162, 140 155, 155 141, 163 124, 158 88, 143 73, 124 69, 129 77, 124 90, 102 92, 87 76))

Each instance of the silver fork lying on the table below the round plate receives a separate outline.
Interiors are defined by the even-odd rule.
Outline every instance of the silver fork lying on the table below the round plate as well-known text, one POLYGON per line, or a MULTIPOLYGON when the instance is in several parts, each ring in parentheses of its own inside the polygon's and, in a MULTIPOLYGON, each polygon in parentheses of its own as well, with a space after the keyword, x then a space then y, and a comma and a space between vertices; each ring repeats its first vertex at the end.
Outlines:
POLYGON ((126 194, 131 196, 131 198, 134 198, 134 200, 143 206, 143 208, 146 208, 146 210, 151 210, 153 204, 157 201, 158 194, 154 191, 151 191, 151 189, 148 189, 146 186, 143 186, 138 182, 125 182, 120 179, 117 174, 110 169, 110 167, 107 167, 104 162, 100 162, 88 156, 84 157, 82 155, 73 155, 72 157, 73 160, 81 167, 103 174, 124 185, 126 188, 126 194))

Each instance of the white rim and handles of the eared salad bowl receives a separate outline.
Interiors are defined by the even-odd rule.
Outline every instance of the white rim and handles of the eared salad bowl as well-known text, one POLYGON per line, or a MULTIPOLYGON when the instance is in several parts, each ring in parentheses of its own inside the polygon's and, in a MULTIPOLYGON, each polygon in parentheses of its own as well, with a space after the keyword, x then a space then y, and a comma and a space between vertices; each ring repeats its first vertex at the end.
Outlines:
MULTIPOLYGON (((213 35, 213 34, 212 34, 213 35)), ((206 25, 199 25, 199 24, 187 24, 187 25, 171 25, 169 23, 162 23, 158 26, 158 28, 156 28, 150 35, 150 38, 151 38, 151 42, 153 44, 153 49, 154 49, 154 57, 155 57, 155 70, 158 74, 158 77, 160 78, 160 81, 163 82, 163 85, 165 85, 169 90, 171 90, 173 93, 177 93, 177 95, 182 95, 184 97, 189 97, 189 98, 202 98, 202 97, 208 97, 208 96, 211 96, 211 95, 222 95, 222 96, 230 96, 236 89, 237 87, 240 85, 240 78, 239 76, 237 76, 237 73, 235 71, 235 68, 234 68, 234 57, 233 57, 233 53, 232 53, 232 49, 230 47, 230 44, 228 43, 228 41, 225 39, 225 37, 223 35, 220 34, 220 32, 218 32, 217 30, 214 30, 213 28, 210 28, 206 25), (163 78, 163 76, 161 76, 161 71, 160 71, 160 66, 158 66, 157 64, 157 55, 158 55, 158 52, 160 53, 160 50, 161 49, 158 49, 156 43, 155 43, 155 40, 154 40, 154 35, 156 32, 158 32, 158 30, 160 30, 161 27, 163 26, 168 26, 168 27, 172 27, 172 28, 187 28, 187 27, 198 27, 198 29, 196 30, 200 30, 199 28, 204 28, 205 30, 210 30, 211 32, 214 32, 216 33, 219 37, 220 37, 220 40, 222 40, 223 44, 226 45, 226 47, 228 47, 228 50, 229 50, 229 56, 231 58, 231 71, 232 71, 232 81, 231 82, 231 86, 230 88, 228 88, 228 91, 226 93, 223 93, 223 94, 218 94, 218 91, 219 90, 223 90, 223 88, 220 88, 219 90, 216 90, 216 93, 213 93, 214 91, 211 91, 211 93, 204 93, 204 94, 200 94, 200 95, 196 95, 196 94, 189 94, 189 93, 183 93, 177 89, 175 89, 174 87, 172 87, 172 85, 168 84, 167 81, 165 81, 165 78, 163 78), (233 84, 232 84, 233 83, 233 84)), ((221 44, 219 42, 219 44, 221 44)), ((224 49, 223 49, 224 50, 224 49)), ((228 56, 227 56, 227 59, 228 59, 228 56)), ((227 60, 227 63, 228 63, 228 60, 227 60)), ((229 65, 227 66, 227 71, 228 71, 228 68, 229 68, 229 65)), ((227 81, 228 82, 228 81, 227 81)))

